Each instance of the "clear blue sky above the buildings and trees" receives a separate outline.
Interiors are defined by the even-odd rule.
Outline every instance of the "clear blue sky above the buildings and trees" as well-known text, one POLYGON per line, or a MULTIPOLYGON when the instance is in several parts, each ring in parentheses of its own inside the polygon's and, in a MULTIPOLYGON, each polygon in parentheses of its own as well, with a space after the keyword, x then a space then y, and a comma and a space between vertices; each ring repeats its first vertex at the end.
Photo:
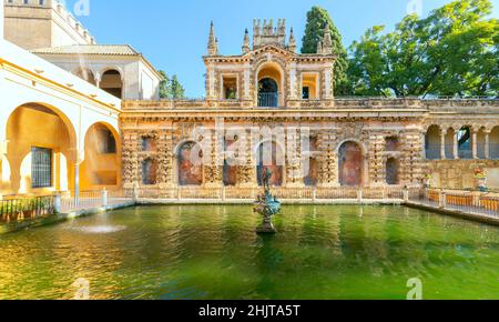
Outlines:
MULTIPOLYGON (((210 21, 214 20, 223 54, 241 53, 244 29, 254 18, 286 18, 302 40, 306 12, 327 9, 348 47, 367 28, 391 29, 410 0, 89 0, 90 14, 78 17, 99 43, 129 43, 157 69, 176 73, 189 97, 204 95, 204 64, 210 21)), ((71 10, 77 0, 67 0, 71 10)), ((422 0, 422 14, 450 0, 422 0)), ((499 0, 492 0, 499 18, 499 0)), ((299 47, 298 47, 299 49, 299 47)))

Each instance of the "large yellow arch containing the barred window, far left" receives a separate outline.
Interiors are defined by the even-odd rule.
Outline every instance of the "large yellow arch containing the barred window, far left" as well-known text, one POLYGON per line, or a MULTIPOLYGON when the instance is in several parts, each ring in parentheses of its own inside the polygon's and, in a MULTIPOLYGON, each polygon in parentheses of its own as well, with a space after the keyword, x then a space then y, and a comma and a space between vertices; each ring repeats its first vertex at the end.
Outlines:
MULTIPOLYGON (((10 173, 2 169, 2 184, 10 193, 74 188, 77 133, 59 109, 24 103, 9 115, 6 125, 10 173)), ((2 167, 3 168, 3 167, 2 167)))

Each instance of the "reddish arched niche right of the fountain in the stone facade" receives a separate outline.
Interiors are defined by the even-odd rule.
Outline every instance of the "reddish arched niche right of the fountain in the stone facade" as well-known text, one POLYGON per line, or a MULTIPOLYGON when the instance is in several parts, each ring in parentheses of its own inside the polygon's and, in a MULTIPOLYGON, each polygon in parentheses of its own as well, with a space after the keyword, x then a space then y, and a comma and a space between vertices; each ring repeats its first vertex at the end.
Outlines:
POLYGON ((338 148, 338 178, 342 187, 361 187, 364 153, 361 144, 346 141, 338 148))

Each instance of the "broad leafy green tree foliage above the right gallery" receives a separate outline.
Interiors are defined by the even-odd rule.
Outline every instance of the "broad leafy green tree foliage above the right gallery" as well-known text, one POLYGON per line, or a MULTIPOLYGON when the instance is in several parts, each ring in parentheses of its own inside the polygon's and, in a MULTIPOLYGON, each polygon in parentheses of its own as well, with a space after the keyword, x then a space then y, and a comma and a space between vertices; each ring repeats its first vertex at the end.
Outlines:
POLYGON ((499 22, 489 0, 458 0, 393 32, 374 27, 349 48, 358 95, 497 95, 499 22))

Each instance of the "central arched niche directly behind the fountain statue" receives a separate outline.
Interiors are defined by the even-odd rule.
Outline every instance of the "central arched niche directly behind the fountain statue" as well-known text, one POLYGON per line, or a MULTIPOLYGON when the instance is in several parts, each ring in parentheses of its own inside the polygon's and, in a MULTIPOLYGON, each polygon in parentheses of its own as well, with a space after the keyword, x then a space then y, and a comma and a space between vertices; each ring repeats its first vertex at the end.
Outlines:
POLYGON ((263 141, 256 148, 256 181, 263 185, 262 174, 267 168, 272 171, 271 185, 282 187, 284 184, 283 151, 275 141, 263 141))

